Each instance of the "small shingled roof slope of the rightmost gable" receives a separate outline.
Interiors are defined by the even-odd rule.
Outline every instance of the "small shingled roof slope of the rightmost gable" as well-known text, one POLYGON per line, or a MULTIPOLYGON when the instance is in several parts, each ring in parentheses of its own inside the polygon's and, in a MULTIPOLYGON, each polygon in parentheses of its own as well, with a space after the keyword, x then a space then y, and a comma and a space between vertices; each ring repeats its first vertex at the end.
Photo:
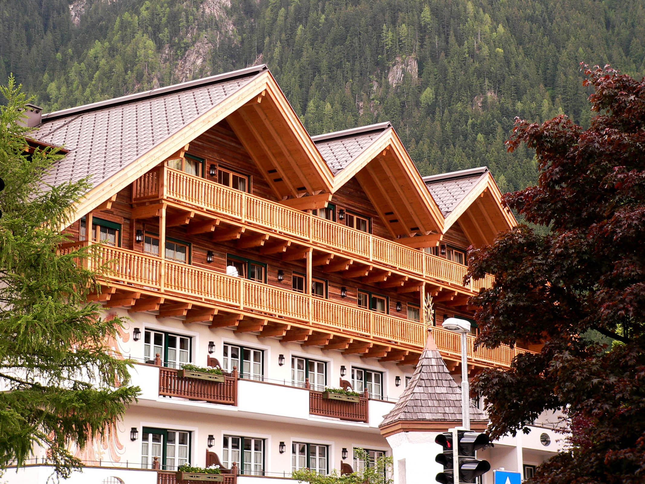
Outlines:
POLYGON ((444 217, 455 210, 459 202, 486 176, 488 168, 480 166, 470 170, 424 176, 423 181, 444 217))

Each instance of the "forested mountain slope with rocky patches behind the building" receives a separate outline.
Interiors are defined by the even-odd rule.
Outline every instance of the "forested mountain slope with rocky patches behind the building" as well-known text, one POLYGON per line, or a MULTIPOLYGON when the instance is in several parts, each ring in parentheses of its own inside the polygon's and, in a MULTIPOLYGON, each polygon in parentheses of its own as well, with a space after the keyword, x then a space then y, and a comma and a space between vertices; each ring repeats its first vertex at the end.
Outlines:
POLYGON ((488 165, 515 116, 591 113, 578 63, 645 71, 645 1, 0 0, 0 79, 46 110, 267 63, 310 134, 390 120, 421 174, 488 165))

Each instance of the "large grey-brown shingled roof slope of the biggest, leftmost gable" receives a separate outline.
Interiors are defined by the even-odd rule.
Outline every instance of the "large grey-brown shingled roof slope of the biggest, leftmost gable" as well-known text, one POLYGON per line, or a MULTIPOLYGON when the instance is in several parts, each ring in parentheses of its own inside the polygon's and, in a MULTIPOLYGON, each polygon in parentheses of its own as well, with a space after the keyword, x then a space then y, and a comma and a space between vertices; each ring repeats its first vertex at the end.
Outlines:
POLYGON ((30 134, 69 153, 43 178, 59 185, 91 176, 96 186, 266 70, 254 66, 43 115, 30 134))

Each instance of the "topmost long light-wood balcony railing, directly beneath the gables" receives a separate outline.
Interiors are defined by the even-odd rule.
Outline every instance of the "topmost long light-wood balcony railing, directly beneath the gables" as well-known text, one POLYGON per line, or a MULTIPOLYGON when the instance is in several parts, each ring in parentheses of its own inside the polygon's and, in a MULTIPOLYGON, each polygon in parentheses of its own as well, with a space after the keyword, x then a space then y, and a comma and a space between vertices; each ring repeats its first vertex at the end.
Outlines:
POLYGON ((159 166, 133 183, 132 203, 158 199, 206 210, 213 215, 229 217, 239 223, 248 223, 315 247, 361 259, 366 264, 375 263, 469 293, 490 287, 493 280, 486 276, 464 286, 466 267, 461 264, 167 166, 159 166))

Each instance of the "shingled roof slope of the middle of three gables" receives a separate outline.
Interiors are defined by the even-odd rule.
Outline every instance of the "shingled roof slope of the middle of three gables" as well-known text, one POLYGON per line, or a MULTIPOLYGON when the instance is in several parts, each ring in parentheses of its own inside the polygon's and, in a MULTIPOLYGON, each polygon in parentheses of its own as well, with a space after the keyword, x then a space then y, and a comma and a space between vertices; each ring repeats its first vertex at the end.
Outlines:
POLYGON ((313 142, 334 175, 352 163, 361 152, 392 125, 389 122, 312 136, 313 142))

